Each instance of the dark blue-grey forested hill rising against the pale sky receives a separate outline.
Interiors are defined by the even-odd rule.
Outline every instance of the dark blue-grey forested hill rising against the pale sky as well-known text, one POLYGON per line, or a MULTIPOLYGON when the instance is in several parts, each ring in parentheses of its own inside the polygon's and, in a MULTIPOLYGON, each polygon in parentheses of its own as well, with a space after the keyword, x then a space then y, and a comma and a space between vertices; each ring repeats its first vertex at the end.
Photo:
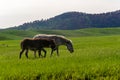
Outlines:
POLYGON ((101 14, 67 12, 47 20, 24 23, 14 29, 81 29, 120 27, 120 10, 101 14))

